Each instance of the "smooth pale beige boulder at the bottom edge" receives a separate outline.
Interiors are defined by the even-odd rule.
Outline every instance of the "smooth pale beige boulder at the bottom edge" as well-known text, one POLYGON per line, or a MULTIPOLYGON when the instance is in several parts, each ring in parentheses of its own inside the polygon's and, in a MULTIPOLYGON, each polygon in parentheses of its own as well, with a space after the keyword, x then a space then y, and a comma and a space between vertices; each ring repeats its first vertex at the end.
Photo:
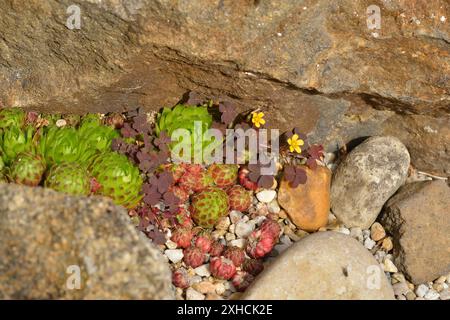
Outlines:
POLYGON ((243 298, 378 300, 394 299, 394 292, 369 251, 329 231, 307 236, 283 252, 243 298))

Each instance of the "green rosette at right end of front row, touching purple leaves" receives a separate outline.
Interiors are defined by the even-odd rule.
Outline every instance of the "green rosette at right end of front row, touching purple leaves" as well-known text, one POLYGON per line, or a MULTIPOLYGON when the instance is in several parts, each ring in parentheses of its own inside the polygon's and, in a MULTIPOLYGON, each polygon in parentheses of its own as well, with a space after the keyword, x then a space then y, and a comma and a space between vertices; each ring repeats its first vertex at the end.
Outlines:
POLYGON ((126 156, 115 152, 99 154, 89 171, 100 184, 97 194, 110 197, 114 203, 130 209, 141 201, 143 180, 139 169, 126 156))

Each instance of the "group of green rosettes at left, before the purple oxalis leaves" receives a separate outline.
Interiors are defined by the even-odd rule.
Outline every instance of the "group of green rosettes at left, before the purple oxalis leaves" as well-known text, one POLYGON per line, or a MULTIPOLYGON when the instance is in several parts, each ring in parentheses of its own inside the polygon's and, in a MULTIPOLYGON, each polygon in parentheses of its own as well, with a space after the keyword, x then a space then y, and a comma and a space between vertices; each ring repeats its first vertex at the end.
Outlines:
POLYGON ((142 178, 132 162, 111 151, 119 133, 94 114, 81 119, 67 116, 63 126, 57 125, 60 119, 18 108, 0 110, 2 180, 89 195, 95 178, 96 194, 135 207, 141 199, 142 178))

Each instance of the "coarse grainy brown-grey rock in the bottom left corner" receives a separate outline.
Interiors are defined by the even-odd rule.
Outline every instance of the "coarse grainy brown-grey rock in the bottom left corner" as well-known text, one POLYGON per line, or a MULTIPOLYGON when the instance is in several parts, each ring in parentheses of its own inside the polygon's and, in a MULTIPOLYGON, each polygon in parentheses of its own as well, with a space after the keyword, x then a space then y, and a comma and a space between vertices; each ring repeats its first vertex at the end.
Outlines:
POLYGON ((159 250, 108 199, 0 184, 0 257, 0 299, 174 298, 159 250))

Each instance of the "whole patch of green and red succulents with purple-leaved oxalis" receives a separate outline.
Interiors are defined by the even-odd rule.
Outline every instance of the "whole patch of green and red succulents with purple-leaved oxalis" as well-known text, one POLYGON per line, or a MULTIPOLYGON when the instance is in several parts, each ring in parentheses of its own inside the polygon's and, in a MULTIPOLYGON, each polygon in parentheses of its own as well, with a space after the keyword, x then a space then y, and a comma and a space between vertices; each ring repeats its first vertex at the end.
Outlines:
MULTIPOLYGON (((205 102, 193 94, 164 108, 152 124, 142 110, 81 117, 1 109, 0 183, 110 197, 130 209, 136 226, 154 243, 164 244, 170 233, 183 250, 184 266, 172 277, 176 287, 191 285, 186 268, 209 261, 213 277, 244 291, 263 270, 262 258, 278 242, 280 226, 267 216, 242 248, 216 240, 211 229, 231 210, 249 212, 254 192, 274 188, 277 176, 263 174, 261 164, 249 164, 249 151, 242 165, 190 162, 204 161, 205 150, 222 147, 222 140, 204 139, 208 129, 258 131, 263 125, 259 109, 238 117, 232 104, 205 102), (173 136, 179 129, 184 135, 173 136), (189 148, 179 148, 185 143, 189 148)), ((323 148, 309 145, 296 128, 283 138, 284 178, 296 187, 306 183, 298 165, 314 169, 323 159, 323 148)))

